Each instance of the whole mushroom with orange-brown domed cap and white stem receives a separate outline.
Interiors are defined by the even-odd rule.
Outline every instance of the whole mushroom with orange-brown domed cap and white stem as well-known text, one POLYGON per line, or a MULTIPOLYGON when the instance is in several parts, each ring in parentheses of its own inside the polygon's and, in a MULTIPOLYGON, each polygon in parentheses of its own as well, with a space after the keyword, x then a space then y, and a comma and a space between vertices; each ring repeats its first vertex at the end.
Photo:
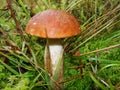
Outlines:
POLYGON ((45 69, 50 74, 50 82, 54 90, 61 90, 59 82, 63 80, 62 38, 72 37, 80 32, 77 20, 64 10, 49 9, 40 12, 33 16, 26 26, 26 33, 47 38, 45 69), (53 84, 54 82, 56 84, 53 84))

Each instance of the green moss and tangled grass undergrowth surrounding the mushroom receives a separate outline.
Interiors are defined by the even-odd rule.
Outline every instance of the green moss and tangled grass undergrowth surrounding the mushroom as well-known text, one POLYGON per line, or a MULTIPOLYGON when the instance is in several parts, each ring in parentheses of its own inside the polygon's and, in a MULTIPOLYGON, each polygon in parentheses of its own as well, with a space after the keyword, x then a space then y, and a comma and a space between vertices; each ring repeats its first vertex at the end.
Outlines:
POLYGON ((0 89, 49 90, 46 41, 27 35, 25 27, 51 8, 73 14, 82 31, 64 39, 64 90, 119 90, 119 0, 0 0, 0 89))

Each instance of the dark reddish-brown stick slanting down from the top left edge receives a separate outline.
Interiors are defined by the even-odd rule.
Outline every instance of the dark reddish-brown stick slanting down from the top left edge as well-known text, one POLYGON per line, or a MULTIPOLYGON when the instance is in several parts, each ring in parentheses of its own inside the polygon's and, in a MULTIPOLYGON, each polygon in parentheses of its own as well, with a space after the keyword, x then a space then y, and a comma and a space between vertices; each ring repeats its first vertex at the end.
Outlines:
POLYGON ((7 8, 10 10, 11 17, 14 19, 14 22, 15 22, 15 24, 16 24, 17 32, 20 34, 21 39, 22 39, 23 41, 25 41, 25 38, 24 38, 24 36, 23 36, 22 29, 21 29, 21 27, 20 27, 19 22, 17 21, 17 19, 16 19, 16 17, 15 17, 15 12, 14 12, 14 10, 12 9, 12 6, 11 6, 12 0, 6 0, 6 1, 7 1, 7 4, 8 4, 7 8))

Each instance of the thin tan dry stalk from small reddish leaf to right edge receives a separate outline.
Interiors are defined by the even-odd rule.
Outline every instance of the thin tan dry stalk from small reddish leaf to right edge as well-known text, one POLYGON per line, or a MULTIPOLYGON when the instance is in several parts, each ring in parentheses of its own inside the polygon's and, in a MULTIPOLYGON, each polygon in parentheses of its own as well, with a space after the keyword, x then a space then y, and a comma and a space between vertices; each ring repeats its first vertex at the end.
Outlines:
POLYGON ((88 55, 88 54, 92 54, 92 53, 97 53, 97 52, 113 49, 113 48, 116 48, 116 47, 120 47, 120 44, 116 44, 116 45, 109 46, 109 47, 106 47, 106 48, 102 48, 102 49, 99 49, 99 50, 94 50, 94 51, 91 51, 91 52, 83 53, 83 54, 80 54, 80 56, 84 56, 84 55, 88 55))

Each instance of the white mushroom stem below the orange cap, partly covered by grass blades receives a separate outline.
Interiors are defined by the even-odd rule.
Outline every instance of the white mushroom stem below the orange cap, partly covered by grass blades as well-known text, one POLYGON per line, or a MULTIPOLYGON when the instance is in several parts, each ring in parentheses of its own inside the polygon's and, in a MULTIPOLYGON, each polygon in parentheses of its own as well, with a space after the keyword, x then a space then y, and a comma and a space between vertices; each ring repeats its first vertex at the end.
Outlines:
POLYGON ((53 90, 61 90, 63 80, 63 45, 60 39, 48 39, 45 49, 45 69, 50 73, 53 90))

